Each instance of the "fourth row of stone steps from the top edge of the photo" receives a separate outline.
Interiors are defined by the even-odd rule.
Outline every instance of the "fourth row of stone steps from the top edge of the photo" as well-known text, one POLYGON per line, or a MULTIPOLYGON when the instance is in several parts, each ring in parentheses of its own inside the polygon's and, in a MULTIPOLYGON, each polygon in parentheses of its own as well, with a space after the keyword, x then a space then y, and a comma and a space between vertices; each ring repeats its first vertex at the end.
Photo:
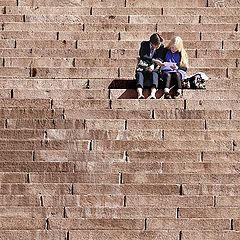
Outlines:
MULTIPOLYGON (((106 8, 108 10, 109 8, 106 8)), ((110 9, 113 10, 113 9, 110 9)), ((116 10, 116 9, 115 9, 116 10)), ((141 9, 144 11, 145 9, 141 9)), ((151 9, 154 10, 154 9, 151 9)), ((51 11, 51 10, 50 10, 51 11)), ((142 14, 143 15, 143 14, 142 14)), ((139 24, 139 23, 41 23, 41 22, 6 22, 3 25, 4 31, 79 31, 79 32, 187 32, 187 31, 198 31, 198 32, 235 32, 238 29, 236 23, 204 23, 204 24, 139 24)), ((166 36, 165 36, 166 37, 166 36)))

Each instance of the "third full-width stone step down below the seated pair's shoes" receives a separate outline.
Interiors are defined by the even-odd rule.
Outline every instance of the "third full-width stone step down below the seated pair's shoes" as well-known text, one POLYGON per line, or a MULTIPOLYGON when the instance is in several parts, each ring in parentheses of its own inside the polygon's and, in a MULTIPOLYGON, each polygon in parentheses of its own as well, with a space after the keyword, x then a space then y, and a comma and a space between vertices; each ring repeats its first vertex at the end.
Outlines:
MULTIPOLYGON (((4 120, 2 120, 4 121, 4 120)), ((61 134, 59 129, 86 129, 86 130, 125 130, 129 131, 153 131, 157 133, 160 129, 164 130, 237 130, 239 120, 202 120, 202 119, 7 119, 7 129, 52 129, 58 135, 61 134), (54 130, 53 130, 54 129, 54 130), (57 129, 57 130, 56 130, 57 129), (57 132, 59 131, 59 132, 57 132)), ((62 131, 63 133, 66 131, 62 131)), ((80 132, 79 132, 80 133, 80 132)), ((100 133, 100 132, 99 132, 100 133)), ((120 133, 120 132, 119 132, 120 133)), ((127 133, 127 132, 126 132, 127 133)), ((46 133, 47 134, 47 133, 46 133)), ((131 132, 129 132, 131 136, 131 132)), ((101 135, 101 134, 100 134, 101 135)), ((160 137, 158 132, 156 136, 160 137)), ((60 136, 59 136, 60 137, 60 136)), ((64 136, 63 136, 64 137, 64 136)), ((66 136, 67 137, 67 136, 66 136)), ((62 138, 62 137, 61 137, 62 138)))

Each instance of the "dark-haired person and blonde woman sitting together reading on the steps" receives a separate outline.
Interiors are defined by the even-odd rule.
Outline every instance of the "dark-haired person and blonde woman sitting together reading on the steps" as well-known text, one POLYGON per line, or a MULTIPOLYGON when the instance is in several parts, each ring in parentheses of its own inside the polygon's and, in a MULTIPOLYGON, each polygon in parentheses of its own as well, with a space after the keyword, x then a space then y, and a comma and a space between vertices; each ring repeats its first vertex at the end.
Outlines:
POLYGON ((139 50, 139 62, 136 69, 138 99, 144 99, 143 86, 147 78, 151 81, 150 99, 156 99, 158 82, 164 81, 164 98, 170 99, 170 87, 173 82, 177 85, 174 98, 182 95, 182 79, 186 75, 188 56, 183 47, 181 37, 174 37, 164 47, 163 39, 154 33, 149 41, 143 41, 139 50))

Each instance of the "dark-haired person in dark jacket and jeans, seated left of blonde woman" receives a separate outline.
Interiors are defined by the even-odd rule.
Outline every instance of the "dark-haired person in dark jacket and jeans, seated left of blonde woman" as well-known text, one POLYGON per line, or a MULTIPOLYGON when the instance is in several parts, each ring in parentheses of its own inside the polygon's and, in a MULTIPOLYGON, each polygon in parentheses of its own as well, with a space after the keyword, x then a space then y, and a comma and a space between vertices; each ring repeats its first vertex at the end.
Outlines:
POLYGON ((149 41, 143 41, 139 50, 139 62, 136 69, 136 86, 138 99, 144 99, 143 86, 144 80, 151 80, 150 99, 156 99, 158 88, 158 68, 162 64, 162 51, 164 49, 163 39, 158 33, 151 35, 149 41))

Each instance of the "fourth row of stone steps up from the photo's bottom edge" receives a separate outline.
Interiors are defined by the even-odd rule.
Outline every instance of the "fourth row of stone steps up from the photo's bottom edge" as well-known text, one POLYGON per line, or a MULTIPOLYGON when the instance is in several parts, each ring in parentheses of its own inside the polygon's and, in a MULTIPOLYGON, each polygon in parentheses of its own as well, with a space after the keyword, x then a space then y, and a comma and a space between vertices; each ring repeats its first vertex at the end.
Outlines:
MULTIPOLYGON (((216 196, 217 207, 224 201, 238 200, 238 196, 216 196)), ((44 207, 123 207, 124 196, 119 195, 56 195, 42 196, 44 207)), ((233 206, 236 206, 236 203, 233 206)), ((128 195, 126 207, 213 207, 213 196, 156 196, 128 195)), ((226 207, 233 207, 225 204, 226 207)), ((0 206, 40 207, 40 196, 0 195, 0 206)))

